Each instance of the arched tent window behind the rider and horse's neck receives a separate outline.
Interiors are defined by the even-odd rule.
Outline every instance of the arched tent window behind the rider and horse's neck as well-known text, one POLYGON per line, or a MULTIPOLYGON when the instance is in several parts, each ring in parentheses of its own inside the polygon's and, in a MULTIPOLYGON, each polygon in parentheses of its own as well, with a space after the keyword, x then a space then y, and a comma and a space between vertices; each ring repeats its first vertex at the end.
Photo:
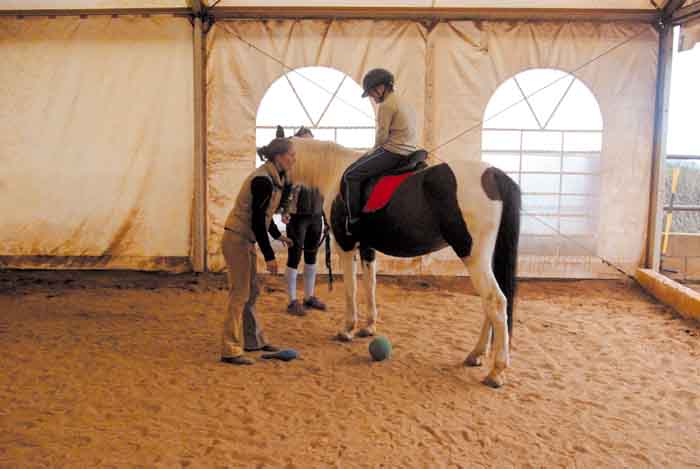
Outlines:
MULTIPOLYGON (((263 96, 256 118, 256 145, 267 144, 278 125, 290 136, 302 125, 319 140, 356 149, 374 144, 374 109, 362 87, 328 67, 303 67, 278 78, 263 96)), ((258 159, 257 165, 260 165, 258 159)))

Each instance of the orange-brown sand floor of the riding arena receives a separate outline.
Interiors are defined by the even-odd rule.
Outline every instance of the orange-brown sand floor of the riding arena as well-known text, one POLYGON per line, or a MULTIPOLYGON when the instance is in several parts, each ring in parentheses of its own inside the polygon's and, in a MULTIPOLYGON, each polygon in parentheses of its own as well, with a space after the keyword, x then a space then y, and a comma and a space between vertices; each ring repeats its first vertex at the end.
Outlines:
POLYGON ((219 363, 222 276, 0 273, 0 467, 700 467, 700 327, 626 282, 521 283, 508 383, 467 279, 381 278, 380 333, 259 311, 301 359, 219 363))

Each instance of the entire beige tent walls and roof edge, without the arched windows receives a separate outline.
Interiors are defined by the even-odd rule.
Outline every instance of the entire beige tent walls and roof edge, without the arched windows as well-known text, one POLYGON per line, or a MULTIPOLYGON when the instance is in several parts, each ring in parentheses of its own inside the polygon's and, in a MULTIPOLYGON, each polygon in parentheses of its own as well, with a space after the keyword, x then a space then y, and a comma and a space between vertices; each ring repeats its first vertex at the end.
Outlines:
MULTIPOLYGON (((359 82, 380 65, 396 71, 426 148, 478 128, 490 98, 518 73, 573 74, 590 89, 603 122, 595 252, 524 253, 522 272, 604 277, 616 274, 598 255, 630 269, 645 262, 647 227, 655 223, 649 213, 658 213, 646 194, 659 185, 662 160, 654 145, 660 35, 649 24, 657 15, 650 2, 222 0, 208 33, 200 18, 190 21, 197 6, 0 3, 0 266, 220 269, 222 222, 255 165, 256 112, 268 88, 288 68, 330 67, 359 82), (328 9, 415 11, 442 20, 324 17, 328 9), (469 9, 516 19, 441 16, 469 9), (525 10, 585 10, 588 19, 518 20, 525 10), (252 17, 237 20, 239 11, 252 17), (315 11, 313 18, 305 11, 315 11), (632 16, 605 19, 613 11, 632 16), (265 18, 280 12, 293 18, 265 18), (591 12, 601 18, 590 21, 591 12)), ((480 159, 481 152, 481 134, 472 132, 440 156, 480 159)), ((384 266, 462 272, 444 253, 384 266)))

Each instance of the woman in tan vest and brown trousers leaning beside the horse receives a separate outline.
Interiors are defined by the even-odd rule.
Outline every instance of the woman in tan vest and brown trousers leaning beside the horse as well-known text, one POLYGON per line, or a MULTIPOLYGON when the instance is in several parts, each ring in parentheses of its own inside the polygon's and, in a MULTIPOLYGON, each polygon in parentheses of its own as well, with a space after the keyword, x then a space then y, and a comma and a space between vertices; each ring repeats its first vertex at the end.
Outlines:
POLYGON ((280 206, 286 173, 294 165, 294 147, 291 140, 276 138, 258 148, 258 155, 266 162, 243 182, 236 204, 226 219, 221 241, 229 281, 221 361, 232 365, 254 363, 243 355, 244 351, 278 351, 277 347, 266 342, 255 315, 255 301, 259 293, 255 243, 260 246, 267 271, 272 274, 277 273, 277 260, 268 232, 285 245, 292 244, 280 234, 272 215, 280 206))

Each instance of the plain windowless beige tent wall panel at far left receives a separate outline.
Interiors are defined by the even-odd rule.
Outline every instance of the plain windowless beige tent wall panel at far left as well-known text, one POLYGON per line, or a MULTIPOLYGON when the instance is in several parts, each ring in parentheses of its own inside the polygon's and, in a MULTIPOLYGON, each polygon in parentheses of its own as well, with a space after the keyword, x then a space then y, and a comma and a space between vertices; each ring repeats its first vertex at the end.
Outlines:
POLYGON ((187 269, 186 18, 0 18, 0 268, 187 269))

